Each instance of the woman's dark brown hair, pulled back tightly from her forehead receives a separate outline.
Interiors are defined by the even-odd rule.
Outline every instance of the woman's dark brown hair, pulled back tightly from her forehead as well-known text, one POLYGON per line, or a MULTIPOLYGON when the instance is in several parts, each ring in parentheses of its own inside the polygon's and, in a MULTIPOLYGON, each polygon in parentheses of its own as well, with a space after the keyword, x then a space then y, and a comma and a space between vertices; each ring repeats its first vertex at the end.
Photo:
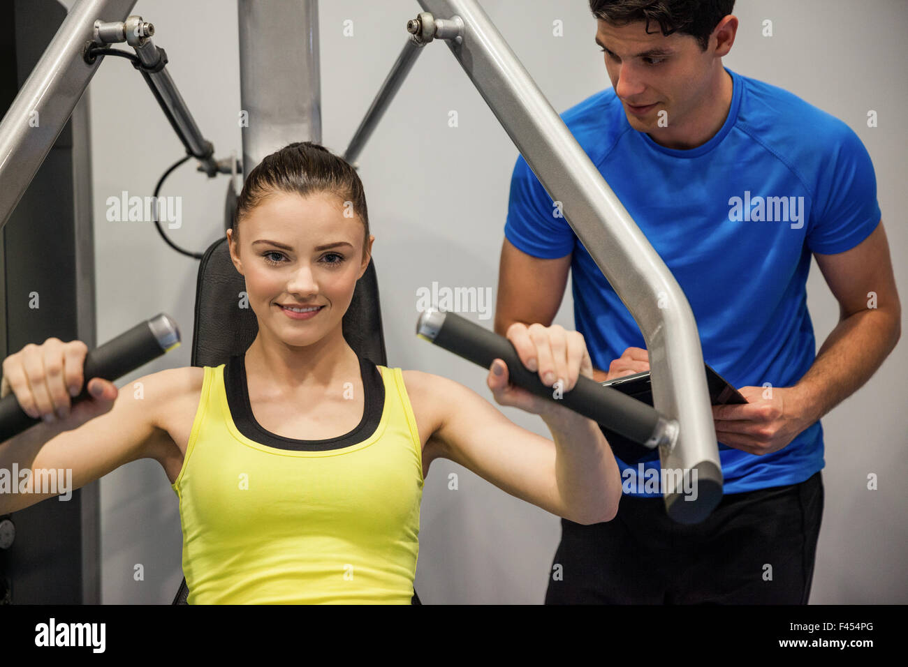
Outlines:
POLYGON ((236 201, 231 229, 239 242, 242 218, 273 192, 309 197, 331 194, 350 201, 353 212, 365 228, 362 255, 369 250, 369 210, 360 175, 349 162, 313 142, 294 142, 272 152, 250 172, 236 201))

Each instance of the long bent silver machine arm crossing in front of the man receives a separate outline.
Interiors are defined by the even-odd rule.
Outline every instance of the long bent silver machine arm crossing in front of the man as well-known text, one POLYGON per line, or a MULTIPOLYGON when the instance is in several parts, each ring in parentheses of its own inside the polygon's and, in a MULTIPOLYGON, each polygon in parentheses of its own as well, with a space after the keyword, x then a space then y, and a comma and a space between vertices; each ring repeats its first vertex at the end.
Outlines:
POLYGON ((696 471, 696 500, 685 499, 683 486, 666 476, 666 511, 680 523, 702 521, 721 499, 723 479, 703 352, 684 292, 479 4, 419 5, 436 22, 463 21, 462 39, 447 40, 451 53, 637 320, 655 407, 679 425, 675 446, 659 447, 661 465, 688 471, 692 480, 696 471))

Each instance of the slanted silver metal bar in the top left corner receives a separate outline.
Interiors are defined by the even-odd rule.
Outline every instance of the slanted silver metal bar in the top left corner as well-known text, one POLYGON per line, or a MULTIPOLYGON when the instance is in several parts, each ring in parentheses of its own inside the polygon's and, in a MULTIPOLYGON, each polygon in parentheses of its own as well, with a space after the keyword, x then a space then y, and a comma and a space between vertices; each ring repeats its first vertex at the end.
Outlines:
POLYGON ((79 0, 0 123, 0 228, 22 199, 103 61, 83 60, 95 19, 123 21, 135 0, 79 0))

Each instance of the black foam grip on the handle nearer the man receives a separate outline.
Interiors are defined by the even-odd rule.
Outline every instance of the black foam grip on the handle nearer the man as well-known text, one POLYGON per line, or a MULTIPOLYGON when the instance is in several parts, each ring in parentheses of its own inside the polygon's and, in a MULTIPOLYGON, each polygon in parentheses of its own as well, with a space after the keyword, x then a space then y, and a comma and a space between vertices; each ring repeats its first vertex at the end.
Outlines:
POLYGON ((483 329, 478 324, 461 318, 455 313, 444 313, 444 323, 432 341, 459 357, 489 368, 496 358, 508 366, 509 382, 526 389, 538 397, 558 401, 561 405, 608 427, 622 436, 640 444, 646 443, 656 429, 659 413, 611 387, 601 387, 595 380, 580 376, 577 385, 562 397, 553 396, 554 388, 547 387, 538 373, 526 368, 520 361, 517 349, 503 336, 483 329))

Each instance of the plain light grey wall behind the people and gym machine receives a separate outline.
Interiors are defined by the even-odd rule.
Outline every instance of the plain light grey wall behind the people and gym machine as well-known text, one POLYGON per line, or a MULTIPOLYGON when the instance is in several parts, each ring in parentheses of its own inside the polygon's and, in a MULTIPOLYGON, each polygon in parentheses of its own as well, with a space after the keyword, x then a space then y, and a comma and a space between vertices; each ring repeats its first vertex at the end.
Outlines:
MULTIPOLYGON (((585 0, 482 4, 558 112, 609 85, 585 0), (552 36, 556 19, 564 23, 563 37, 552 36)), ((898 213, 908 207, 902 115, 908 95, 897 83, 908 64, 908 5, 860 5, 862 13, 847 0, 738 0, 741 26, 725 64, 801 96, 858 133, 873 157, 896 279, 908 300, 908 232, 898 213), (772 37, 761 34, 766 18, 773 21, 772 37), (866 126, 870 109, 879 113, 877 128, 866 126)), ((331 150, 345 148, 400 50, 404 22, 418 11, 410 0, 321 3, 323 142, 331 150), (342 34, 346 19, 353 21, 352 37, 342 34)), ((154 23, 155 42, 167 50, 173 78, 218 155, 239 153, 234 3, 140 0, 135 12, 154 23), (200 28, 217 36, 203 38, 200 28)), ((125 61, 108 59, 95 76, 91 112, 98 340, 163 310, 182 323, 186 345, 127 379, 188 365, 197 261, 165 246, 150 223, 108 222, 104 215, 106 198, 120 191, 150 195, 164 168, 183 155, 182 145, 125 61)), ((479 368, 415 342, 416 294, 432 281, 495 294, 516 158, 448 49, 430 45, 360 158, 391 366, 453 378, 491 399, 479 368), (448 127, 449 110, 458 111, 458 128, 448 127)), ((189 164, 173 173, 163 194, 183 196, 183 226, 169 231, 175 242, 202 251, 222 235, 225 187, 223 177, 206 181, 189 164)), ((816 269, 808 291, 820 345, 838 319, 838 307, 816 269)), ((556 321, 572 328, 572 312, 568 286, 556 321)), ((491 327, 491 319, 482 321, 491 327)), ((906 350, 904 343, 896 348, 865 387, 823 420, 826 507, 812 603, 908 602, 908 471, 901 451, 908 439, 906 350), (879 476, 879 490, 866 490, 869 473, 879 476)), ((520 426, 548 436, 538 417, 504 411, 520 426)), ((176 496, 163 471, 152 461, 135 462, 101 485, 104 603, 169 603, 182 577, 181 532, 176 496), (135 564, 143 564, 141 582, 133 580, 135 564)), ((423 496, 419 595, 425 603, 541 603, 559 534, 556 516, 438 461, 423 496), (451 472, 459 475, 457 491, 448 490, 451 472)))

